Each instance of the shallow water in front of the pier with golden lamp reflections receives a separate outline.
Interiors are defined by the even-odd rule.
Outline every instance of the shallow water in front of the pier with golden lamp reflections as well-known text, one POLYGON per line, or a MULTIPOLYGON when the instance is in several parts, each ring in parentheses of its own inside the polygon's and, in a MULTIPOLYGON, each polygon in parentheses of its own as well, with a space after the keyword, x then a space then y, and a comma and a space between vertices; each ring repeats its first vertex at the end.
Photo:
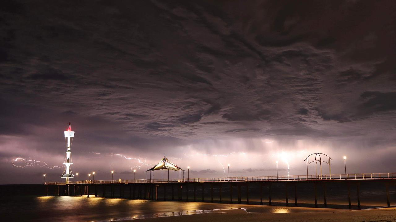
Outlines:
MULTIPOLYGON (((253 207, 253 206, 252 206, 253 207)), ((236 208, 233 204, 148 201, 119 198, 1 197, 2 221, 120 221, 153 217, 213 213, 236 208), (17 214, 18 217, 13 215, 17 214)), ((260 207, 268 213, 288 213, 284 207, 260 207)), ((248 212, 249 210, 247 210, 248 212)))

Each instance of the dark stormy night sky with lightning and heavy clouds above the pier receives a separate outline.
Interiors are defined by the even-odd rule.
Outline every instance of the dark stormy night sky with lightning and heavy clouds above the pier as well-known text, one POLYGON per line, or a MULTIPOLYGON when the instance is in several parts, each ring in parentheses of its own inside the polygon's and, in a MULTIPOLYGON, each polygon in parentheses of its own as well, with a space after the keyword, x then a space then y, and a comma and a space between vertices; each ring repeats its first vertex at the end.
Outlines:
POLYGON ((344 155, 348 173, 395 172, 395 11, 393 0, 3 1, 0 183, 64 181, 69 122, 79 180, 144 179, 165 154, 190 177, 225 177, 227 164, 230 176, 276 175, 276 160, 280 175, 304 175, 315 152, 332 173, 344 155))

